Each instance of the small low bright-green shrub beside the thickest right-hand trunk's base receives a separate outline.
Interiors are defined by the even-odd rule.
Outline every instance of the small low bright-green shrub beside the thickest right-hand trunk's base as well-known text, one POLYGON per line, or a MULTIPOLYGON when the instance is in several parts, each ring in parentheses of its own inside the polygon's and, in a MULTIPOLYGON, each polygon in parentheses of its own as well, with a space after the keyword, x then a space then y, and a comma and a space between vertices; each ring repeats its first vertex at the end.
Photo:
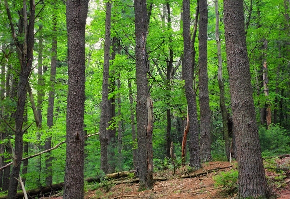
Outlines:
POLYGON ((222 186, 227 194, 236 193, 238 191, 238 177, 239 172, 237 170, 221 172, 214 177, 215 186, 222 186))

